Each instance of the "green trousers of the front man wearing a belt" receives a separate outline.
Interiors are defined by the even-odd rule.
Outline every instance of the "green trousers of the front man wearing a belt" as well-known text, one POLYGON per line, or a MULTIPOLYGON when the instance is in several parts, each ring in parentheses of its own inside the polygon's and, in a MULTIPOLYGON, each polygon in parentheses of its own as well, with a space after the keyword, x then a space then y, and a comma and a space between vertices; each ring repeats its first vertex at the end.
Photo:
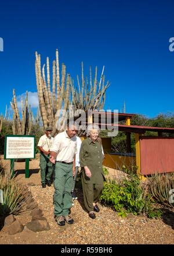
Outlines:
POLYGON ((67 216, 72 206, 73 163, 56 162, 54 176, 54 213, 56 216, 67 216))

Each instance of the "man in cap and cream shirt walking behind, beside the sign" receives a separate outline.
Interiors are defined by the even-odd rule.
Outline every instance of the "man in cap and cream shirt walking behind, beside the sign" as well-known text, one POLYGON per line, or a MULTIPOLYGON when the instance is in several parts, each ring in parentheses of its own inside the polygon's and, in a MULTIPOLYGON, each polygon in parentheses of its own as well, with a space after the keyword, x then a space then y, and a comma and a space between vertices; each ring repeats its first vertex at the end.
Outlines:
POLYGON ((41 136, 38 142, 38 149, 41 152, 40 164, 41 167, 41 183, 42 188, 46 188, 46 184, 51 186, 51 176, 53 173, 53 165, 49 162, 50 147, 53 143, 52 128, 45 129, 45 135, 41 136), (48 171, 48 172, 47 172, 48 171))

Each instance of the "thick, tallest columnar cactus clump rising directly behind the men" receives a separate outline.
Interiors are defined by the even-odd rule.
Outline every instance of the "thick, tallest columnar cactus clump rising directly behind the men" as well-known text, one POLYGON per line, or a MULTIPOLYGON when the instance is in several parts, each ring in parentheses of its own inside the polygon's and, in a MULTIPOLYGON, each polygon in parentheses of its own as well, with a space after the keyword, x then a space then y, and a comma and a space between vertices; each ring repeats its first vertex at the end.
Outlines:
POLYGON ((37 90, 39 98, 39 108, 41 111, 42 121, 44 129, 48 126, 53 127, 53 134, 56 134, 55 124, 59 120, 56 116, 57 110, 67 110, 68 103, 70 100, 69 85, 70 75, 67 74, 66 79, 66 66, 61 66, 61 86, 60 86, 60 75, 59 75, 59 55, 56 50, 56 61, 53 61, 52 66, 52 94, 50 91, 50 68, 49 58, 46 58, 46 74, 47 74, 47 85, 45 79, 45 64, 41 72, 41 55, 35 52, 35 75, 37 81, 37 90), (57 90, 56 90, 57 88, 57 90))

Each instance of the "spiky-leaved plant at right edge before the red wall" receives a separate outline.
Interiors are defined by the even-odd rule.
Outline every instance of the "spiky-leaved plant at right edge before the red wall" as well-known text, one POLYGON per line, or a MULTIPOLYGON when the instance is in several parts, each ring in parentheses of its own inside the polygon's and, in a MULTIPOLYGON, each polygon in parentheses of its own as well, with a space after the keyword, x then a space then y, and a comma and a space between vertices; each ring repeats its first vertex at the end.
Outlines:
POLYGON ((174 208, 172 191, 174 191, 174 173, 153 174, 149 181, 149 191, 154 200, 164 206, 174 208))

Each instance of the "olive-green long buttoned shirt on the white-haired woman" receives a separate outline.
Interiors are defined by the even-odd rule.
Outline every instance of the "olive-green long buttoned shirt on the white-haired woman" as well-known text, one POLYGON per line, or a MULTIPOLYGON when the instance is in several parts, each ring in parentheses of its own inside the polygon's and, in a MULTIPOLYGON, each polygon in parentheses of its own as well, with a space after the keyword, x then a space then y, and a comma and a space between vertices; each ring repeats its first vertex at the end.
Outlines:
POLYGON ((86 138, 82 141, 79 160, 81 167, 88 166, 92 174, 92 176, 88 178, 85 174, 85 170, 83 170, 82 175, 84 182, 88 184, 102 184, 104 180, 102 145, 98 141, 93 142, 90 138, 86 138))

